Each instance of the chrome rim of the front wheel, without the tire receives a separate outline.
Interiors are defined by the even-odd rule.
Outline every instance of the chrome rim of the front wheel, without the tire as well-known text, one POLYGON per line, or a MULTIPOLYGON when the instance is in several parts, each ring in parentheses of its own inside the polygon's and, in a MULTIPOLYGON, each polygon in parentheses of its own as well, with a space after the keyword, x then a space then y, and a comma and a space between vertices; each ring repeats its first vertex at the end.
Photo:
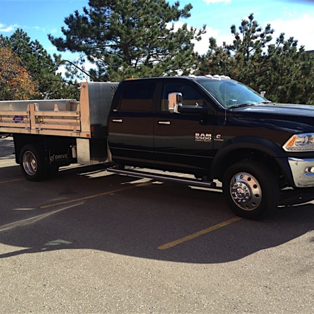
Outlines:
POLYGON ((235 205, 243 210, 254 210, 262 202, 262 188, 249 173, 237 173, 230 182, 230 195, 235 205))

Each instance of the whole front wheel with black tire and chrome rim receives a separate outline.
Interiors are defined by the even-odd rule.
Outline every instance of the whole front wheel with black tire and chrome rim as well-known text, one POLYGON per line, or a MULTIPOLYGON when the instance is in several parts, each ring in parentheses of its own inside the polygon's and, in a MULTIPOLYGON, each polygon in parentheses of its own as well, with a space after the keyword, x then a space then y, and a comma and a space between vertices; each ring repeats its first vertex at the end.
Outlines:
POLYGON ((257 161, 237 162, 227 169, 223 192, 231 210, 247 219, 262 218, 279 200, 275 176, 257 161))

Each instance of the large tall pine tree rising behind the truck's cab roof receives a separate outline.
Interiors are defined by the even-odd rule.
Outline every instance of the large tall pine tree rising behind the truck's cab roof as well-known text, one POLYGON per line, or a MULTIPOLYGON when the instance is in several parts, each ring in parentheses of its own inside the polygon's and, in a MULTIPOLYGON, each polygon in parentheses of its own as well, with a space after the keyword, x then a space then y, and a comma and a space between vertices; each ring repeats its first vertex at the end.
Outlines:
POLYGON ((94 80, 189 74, 194 65, 192 39, 203 29, 175 30, 174 22, 190 16, 191 4, 177 1, 89 0, 83 14, 75 11, 61 30, 65 38, 49 35, 59 51, 82 52, 95 65, 94 80))

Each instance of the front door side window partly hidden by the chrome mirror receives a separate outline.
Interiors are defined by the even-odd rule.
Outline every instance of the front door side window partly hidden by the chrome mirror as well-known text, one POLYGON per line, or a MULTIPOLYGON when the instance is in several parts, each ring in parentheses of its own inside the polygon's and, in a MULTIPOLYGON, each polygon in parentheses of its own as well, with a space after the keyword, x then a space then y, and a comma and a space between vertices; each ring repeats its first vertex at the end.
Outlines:
POLYGON ((168 104, 168 95, 170 93, 181 93, 183 106, 203 105, 202 95, 188 83, 186 82, 165 83, 162 90, 161 111, 170 111, 172 109, 172 107, 169 107, 168 104))

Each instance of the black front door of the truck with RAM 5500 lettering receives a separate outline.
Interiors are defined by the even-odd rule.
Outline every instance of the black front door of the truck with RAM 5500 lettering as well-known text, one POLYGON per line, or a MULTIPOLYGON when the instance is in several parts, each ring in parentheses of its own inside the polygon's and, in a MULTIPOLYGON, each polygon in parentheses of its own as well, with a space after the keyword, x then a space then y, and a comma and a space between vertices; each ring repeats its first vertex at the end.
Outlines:
POLYGON ((183 79, 163 83, 160 110, 155 117, 155 160, 157 164, 208 169, 213 154, 214 115, 174 113, 168 105, 169 93, 181 93, 184 105, 209 105, 197 86, 183 79))

